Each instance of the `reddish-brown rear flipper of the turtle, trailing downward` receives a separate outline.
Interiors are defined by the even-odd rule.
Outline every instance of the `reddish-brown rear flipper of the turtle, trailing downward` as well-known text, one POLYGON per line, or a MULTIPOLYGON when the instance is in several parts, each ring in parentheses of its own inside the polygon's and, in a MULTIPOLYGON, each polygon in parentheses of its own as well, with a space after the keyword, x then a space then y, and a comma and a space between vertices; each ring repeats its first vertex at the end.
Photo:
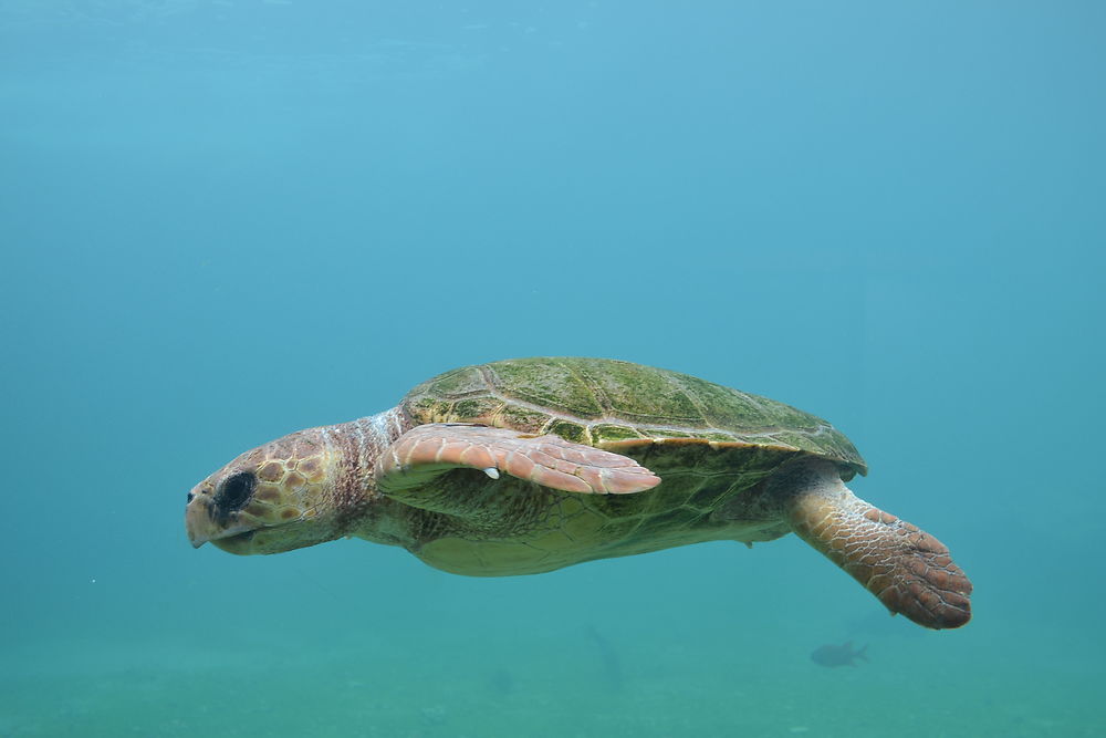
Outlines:
POLYGON ((971 619, 971 582, 943 543, 854 496, 832 464, 806 462, 786 478, 794 531, 891 613, 931 628, 971 619))

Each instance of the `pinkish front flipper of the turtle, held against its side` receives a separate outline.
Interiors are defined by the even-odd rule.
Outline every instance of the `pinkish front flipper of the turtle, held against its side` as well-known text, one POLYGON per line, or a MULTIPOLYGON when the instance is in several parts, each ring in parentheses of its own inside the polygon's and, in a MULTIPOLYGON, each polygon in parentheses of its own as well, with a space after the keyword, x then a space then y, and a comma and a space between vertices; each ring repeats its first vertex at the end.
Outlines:
POLYGON ((374 475, 388 495, 422 487, 458 468, 500 472, 566 492, 626 495, 660 484, 618 454, 508 428, 432 423, 411 428, 380 455, 374 475))

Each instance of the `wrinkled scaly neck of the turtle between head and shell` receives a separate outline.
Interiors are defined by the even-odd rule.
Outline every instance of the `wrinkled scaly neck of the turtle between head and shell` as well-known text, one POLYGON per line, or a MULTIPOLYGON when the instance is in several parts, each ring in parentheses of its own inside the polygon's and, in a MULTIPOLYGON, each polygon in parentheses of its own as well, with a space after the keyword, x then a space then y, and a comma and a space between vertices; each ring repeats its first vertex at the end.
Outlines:
MULTIPOLYGON (((340 423, 324 429, 326 444, 334 454, 332 503, 342 536, 369 538, 380 521, 376 509, 380 495, 376 490, 373 465, 399 436, 413 426, 401 407, 368 417, 340 423)), ((377 540, 375 537, 372 540, 377 540)))

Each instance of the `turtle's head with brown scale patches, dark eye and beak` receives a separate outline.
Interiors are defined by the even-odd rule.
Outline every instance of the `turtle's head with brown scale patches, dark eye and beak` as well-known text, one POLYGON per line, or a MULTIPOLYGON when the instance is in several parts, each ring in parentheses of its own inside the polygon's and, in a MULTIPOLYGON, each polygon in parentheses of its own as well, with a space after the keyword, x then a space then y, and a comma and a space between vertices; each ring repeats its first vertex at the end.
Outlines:
MULTIPOLYGON (((279 553, 334 540, 343 514, 335 493, 341 450, 331 428, 311 428, 242 454, 188 492, 192 545, 231 553, 279 553)), ((348 487, 349 485, 345 485, 348 487)))

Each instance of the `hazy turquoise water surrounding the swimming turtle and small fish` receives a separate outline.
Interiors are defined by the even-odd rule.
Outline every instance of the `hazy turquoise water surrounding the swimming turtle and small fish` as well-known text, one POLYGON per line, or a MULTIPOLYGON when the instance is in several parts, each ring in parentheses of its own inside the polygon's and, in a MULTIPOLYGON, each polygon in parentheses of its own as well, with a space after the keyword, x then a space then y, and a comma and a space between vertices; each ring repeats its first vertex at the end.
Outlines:
POLYGON ((893 4, 0 1, 0 736, 1103 735, 1106 6, 893 4), (547 354, 830 418, 974 620, 794 537, 188 544, 238 453, 547 354))

